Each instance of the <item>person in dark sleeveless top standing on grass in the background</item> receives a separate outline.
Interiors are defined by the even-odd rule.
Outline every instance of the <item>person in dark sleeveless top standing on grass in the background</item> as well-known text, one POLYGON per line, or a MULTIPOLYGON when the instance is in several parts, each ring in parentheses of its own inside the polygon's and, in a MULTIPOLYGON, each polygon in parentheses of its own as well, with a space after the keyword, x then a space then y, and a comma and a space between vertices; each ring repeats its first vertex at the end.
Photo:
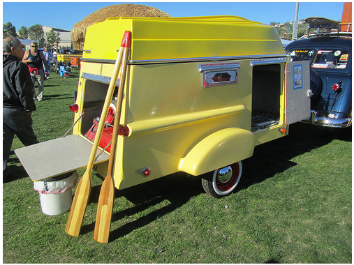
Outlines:
POLYGON ((36 81, 38 84, 38 94, 36 95, 36 91, 34 89, 34 98, 37 98, 38 101, 42 101, 44 91, 43 63, 45 69, 49 68, 47 65, 47 61, 45 61, 43 52, 38 50, 38 44, 36 41, 31 42, 31 50, 27 50, 26 52, 24 52, 24 57, 22 61, 24 63, 27 63, 27 65, 29 66, 29 72, 31 73, 33 84, 36 84, 36 81))

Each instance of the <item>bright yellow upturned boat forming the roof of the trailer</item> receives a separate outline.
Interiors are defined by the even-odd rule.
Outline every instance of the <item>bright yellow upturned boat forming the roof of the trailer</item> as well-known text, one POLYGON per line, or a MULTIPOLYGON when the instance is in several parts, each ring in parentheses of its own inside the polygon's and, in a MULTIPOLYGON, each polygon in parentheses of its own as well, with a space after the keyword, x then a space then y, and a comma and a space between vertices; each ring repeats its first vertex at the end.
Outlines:
POLYGON ((83 57, 116 59, 126 30, 132 60, 284 53, 276 29, 243 17, 114 17, 88 27, 83 57))

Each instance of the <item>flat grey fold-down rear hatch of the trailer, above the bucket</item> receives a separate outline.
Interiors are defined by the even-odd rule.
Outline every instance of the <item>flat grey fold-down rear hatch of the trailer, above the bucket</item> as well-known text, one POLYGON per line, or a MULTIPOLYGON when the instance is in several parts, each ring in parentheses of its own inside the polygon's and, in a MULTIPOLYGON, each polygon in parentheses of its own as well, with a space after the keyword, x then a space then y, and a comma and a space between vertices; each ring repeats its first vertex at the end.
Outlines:
MULTIPOLYGON (((24 169, 32 181, 42 181, 53 176, 86 167, 91 154, 92 143, 79 135, 68 135, 47 142, 16 149, 24 169)), ((101 153, 98 149, 96 156, 101 153)), ((101 153, 94 164, 107 161, 107 153, 101 153)))

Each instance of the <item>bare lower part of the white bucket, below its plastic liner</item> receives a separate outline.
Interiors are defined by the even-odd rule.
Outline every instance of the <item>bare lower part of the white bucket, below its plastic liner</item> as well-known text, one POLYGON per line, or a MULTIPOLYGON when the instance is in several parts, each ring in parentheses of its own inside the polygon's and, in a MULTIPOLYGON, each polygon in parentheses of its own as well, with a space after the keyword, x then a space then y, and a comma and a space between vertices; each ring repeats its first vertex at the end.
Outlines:
POLYGON ((59 215, 69 211, 73 202, 72 190, 58 194, 45 194, 39 192, 40 207, 46 215, 59 215))

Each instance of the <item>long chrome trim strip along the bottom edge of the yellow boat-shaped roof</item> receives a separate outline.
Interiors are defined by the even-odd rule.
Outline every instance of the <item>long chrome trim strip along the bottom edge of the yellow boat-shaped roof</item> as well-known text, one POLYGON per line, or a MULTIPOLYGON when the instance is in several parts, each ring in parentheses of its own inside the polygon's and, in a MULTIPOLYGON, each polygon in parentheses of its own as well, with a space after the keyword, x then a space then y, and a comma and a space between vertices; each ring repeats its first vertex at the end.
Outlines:
MULTIPOLYGON (((150 63, 188 63, 195 61, 228 61, 228 60, 251 60, 251 59, 270 59, 270 58, 289 58, 289 54, 256 54, 239 56, 212 56, 196 58, 176 58, 176 59, 154 59, 154 60, 130 60, 128 64, 150 64, 150 63)), ((93 63, 115 63, 115 60, 82 58, 82 61, 93 63)))

